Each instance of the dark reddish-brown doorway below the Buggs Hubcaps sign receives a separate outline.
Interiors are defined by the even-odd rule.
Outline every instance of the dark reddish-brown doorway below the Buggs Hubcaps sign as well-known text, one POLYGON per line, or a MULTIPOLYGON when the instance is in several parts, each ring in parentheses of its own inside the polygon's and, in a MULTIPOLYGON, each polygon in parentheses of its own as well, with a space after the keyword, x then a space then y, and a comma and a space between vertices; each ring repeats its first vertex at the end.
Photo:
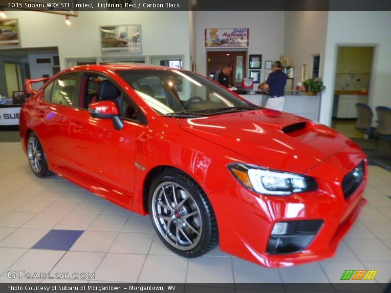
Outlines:
POLYGON ((207 51, 206 69, 207 76, 214 79, 216 71, 226 64, 232 64, 234 70, 231 72, 230 84, 239 86, 241 80, 246 77, 246 51, 207 51))

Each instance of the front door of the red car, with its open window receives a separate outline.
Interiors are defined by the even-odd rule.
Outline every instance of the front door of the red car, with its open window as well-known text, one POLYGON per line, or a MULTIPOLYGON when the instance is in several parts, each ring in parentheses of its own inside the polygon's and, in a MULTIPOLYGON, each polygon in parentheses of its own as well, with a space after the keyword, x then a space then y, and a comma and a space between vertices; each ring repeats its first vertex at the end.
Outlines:
MULTIPOLYGON (((124 127, 115 130, 111 119, 92 118, 87 110, 97 97, 101 83, 112 83, 107 76, 86 72, 82 79, 81 107, 75 109, 70 119, 69 141, 73 153, 73 168, 90 179, 133 197, 136 137, 141 123, 135 117, 122 114, 124 127), (97 86, 97 84, 99 84, 97 86), (98 87, 98 89, 97 89, 98 87)), ((135 106, 119 86, 118 97, 113 101, 120 113, 135 106)))

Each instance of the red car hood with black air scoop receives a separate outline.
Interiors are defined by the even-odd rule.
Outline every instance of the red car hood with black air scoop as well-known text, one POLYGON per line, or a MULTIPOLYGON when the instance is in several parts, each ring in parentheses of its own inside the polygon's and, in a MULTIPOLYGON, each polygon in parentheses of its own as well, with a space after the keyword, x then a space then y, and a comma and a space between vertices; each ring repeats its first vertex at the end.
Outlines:
POLYGON ((345 146, 340 133, 270 109, 178 119, 184 131, 224 146, 262 167, 304 173, 345 146))

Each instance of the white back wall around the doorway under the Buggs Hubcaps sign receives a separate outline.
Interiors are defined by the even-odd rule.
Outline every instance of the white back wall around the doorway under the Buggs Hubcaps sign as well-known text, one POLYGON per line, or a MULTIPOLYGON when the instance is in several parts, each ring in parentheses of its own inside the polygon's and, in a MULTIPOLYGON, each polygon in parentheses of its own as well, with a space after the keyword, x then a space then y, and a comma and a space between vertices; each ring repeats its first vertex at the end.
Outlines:
MULTIPOLYGON (((249 28, 248 55, 262 55, 262 73, 265 60, 280 60, 284 42, 284 11, 196 11, 195 45, 197 72, 206 75, 205 28, 249 28)), ((221 48, 222 50, 226 48, 221 48)))

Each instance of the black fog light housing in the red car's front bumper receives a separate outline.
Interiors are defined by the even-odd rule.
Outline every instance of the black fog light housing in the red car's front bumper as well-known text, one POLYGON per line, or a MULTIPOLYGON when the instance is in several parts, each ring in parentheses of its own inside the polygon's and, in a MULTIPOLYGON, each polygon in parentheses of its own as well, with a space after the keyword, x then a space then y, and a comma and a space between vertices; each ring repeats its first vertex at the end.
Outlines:
POLYGON ((266 252, 295 253, 304 250, 318 233, 322 220, 279 222, 273 227, 266 252))

